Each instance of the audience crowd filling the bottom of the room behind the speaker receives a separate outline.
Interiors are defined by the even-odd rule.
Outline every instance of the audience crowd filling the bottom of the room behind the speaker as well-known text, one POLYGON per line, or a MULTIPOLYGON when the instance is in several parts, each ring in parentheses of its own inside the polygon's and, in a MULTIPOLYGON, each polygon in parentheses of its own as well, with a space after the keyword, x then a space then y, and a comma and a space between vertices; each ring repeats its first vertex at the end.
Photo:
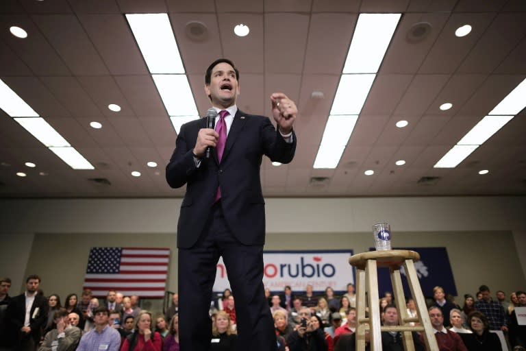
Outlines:
MULTIPOLYGON (((152 315, 140 308, 137 295, 110 290, 99 300, 86 289, 61 300, 55 293, 46 298, 36 275, 25 283, 24 293, 10 296, 11 280, 0 278, 0 351, 179 351, 177 293, 164 315, 152 315)), ((280 292, 267 290, 277 351, 355 350, 353 284, 341 296, 331 287, 316 295, 312 285, 301 293, 288 286, 280 292)), ((433 293, 427 313, 440 351, 499 351, 503 345, 510 351, 525 350, 526 326, 519 324, 515 310, 526 307, 525 291, 514 291, 507 300, 499 290, 492 298, 489 287, 481 285, 475 298, 464 295, 463 306, 442 287, 435 287, 433 293), (492 331, 501 331, 503 340, 492 331)), ((380 300, 382 324, 399 325, 401 308, 414 319, 411 325, 418 324, 414 301, 409 298, 405 306, 395 306, 390 292, 380 300)), ((236 350, 236 306, 229 289, 211 303, 210 317, 210 350, 236 350)), ((423 335, 412 332, 412 339, 415 350, 426 350, 423 335)), ((404 350, 403 333, 381 332, 381 343, 383 350, 404 350)))

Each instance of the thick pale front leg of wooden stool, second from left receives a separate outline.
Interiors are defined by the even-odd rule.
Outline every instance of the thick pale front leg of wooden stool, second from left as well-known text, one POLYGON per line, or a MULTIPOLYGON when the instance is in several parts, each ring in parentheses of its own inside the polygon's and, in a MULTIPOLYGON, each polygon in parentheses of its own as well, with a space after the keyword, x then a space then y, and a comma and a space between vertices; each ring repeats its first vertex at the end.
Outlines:
POLYGON ((367 260, 365 267, 369 300, 369 332, 371 351, 381 351, 380 302, 378 298, 378 274, 376 260, 367 260))

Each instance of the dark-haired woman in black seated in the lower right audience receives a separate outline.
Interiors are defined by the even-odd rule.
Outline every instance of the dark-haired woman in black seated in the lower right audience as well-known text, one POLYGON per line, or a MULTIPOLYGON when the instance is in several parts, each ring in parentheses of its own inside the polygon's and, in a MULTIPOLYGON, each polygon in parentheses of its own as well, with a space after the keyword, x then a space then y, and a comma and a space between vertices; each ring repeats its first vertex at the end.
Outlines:
POLYGON ((502 351, 501 341, 490 332, 490 323, 484 313, 473 311, 468 315, 468 326, 472 334, 459 334, 468 351, 502 351))

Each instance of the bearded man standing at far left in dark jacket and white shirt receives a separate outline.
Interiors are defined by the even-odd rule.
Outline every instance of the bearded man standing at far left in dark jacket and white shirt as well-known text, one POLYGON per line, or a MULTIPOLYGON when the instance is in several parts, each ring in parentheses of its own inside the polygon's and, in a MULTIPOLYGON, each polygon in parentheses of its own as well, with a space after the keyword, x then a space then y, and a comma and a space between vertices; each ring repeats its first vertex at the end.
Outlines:
POLYGON ((7 343, 13 350, 34 351, 40 342, 41 330, 47 323, 47 299, 38 294, 40 277, 25 280, 25 293, 15 296, 5 311, 7 343))

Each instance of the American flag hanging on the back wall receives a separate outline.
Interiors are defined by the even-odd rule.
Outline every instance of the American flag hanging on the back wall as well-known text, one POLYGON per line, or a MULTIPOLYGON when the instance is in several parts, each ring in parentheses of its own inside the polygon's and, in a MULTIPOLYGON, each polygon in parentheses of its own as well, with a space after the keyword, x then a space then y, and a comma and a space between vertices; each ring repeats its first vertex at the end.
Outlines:
POLYGON ((92 247, 84 289, 103 297, 108 290, 125 296, 163 298, 170 249, 151 247, 92 247))

